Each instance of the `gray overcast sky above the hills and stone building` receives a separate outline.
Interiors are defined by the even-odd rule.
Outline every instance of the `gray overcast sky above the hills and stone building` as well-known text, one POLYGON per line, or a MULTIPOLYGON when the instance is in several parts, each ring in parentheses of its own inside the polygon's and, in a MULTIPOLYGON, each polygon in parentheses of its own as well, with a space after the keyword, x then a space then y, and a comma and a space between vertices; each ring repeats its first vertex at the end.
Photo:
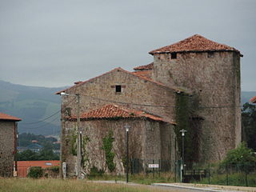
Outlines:
POLYGON ((244 54, 242 90, 256 90, 255 10, 255 0, 0 0, 0 79, 70 86, 201 34, 244 54))

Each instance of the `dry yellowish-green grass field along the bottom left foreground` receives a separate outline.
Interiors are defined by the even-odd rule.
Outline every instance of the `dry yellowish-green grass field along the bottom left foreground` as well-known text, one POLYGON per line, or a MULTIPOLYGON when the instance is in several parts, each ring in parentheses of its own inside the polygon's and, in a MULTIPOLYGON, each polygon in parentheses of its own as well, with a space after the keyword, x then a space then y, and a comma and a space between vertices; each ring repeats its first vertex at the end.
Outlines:
POLYGON ((32 179, 32 178, 0 178, 1 192, 162 192, 150 186, 133 186, 116 183, 98 183, 86 180, 32 179))

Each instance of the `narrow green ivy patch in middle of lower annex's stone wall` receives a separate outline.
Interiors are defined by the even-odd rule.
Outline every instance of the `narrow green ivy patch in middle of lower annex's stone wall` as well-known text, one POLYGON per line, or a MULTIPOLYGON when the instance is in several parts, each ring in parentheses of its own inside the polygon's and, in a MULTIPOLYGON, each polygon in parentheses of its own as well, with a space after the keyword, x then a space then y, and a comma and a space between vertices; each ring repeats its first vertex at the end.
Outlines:
POLYGON ((106 165, 109 168, 110 172, 114 171, 115 164, 114 164, 114 152, 112 152, 114 137, 113 131, 110 130, 106 137, 103 138, 103 146, 102 149, 105 151, 106 157, 106 165))

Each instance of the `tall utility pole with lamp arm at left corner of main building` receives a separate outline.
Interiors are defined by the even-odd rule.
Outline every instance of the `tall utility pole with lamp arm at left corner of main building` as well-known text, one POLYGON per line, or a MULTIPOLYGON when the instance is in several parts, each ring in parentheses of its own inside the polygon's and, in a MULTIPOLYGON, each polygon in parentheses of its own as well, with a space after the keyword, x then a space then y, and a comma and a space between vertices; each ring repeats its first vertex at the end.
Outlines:
POLYGON ((82 153, 81 153, 81 148, 82 148, 82 130, 80 128, 80 94, 66 94, 64 92, 61 93, 61 95, 66 95, 66 96, 76 96, 77 98, 77 127, 78 127, 78 146, 77 146, 77 157, 78 157, 78 179, 81 178, 81 161, 82 161, 82 153))

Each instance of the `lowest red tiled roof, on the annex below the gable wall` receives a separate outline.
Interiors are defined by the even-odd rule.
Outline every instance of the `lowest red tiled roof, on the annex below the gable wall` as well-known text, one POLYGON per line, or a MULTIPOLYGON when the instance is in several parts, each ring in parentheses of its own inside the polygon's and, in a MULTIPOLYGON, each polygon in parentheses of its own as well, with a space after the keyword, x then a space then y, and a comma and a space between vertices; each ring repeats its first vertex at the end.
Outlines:
MULTIPOLYGON (((102 118, 150 118, 154 121, 166 122, 163 118, 154 114, 147 114, 142 110, 127 109, 117 105, 102 106, 97 110, 90 110, 89 112, 81 115, 81 120, 102 119, 102 118)), ((76 121, 76 117, 69 118, 70 121, 76 121)), ((170 122, 175 124, 174 122, 170 122)))

